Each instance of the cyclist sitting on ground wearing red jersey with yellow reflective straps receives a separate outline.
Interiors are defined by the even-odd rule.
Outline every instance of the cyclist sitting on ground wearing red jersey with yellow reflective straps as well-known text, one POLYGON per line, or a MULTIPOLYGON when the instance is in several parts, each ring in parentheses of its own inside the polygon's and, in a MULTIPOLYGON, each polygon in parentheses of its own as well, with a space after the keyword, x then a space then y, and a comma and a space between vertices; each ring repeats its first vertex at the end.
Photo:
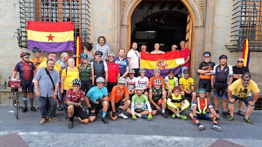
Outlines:
POLYGON ((205 98, 205 89, 199 88, 197 93, 199 97, 193 100, 193 112, 191 112, 189 116, 192 118, 194 123, 198 125, 198 129, 200 131, 203 131, 206 127, 200 124, 199 119, 208 120, 210 118, 213 118, 213 125, 211 126, 211 128, 215 129, 216 131, 221 131, 221 127, 217 126, 217 124, 219 124, 219 114, 216 114, 216 111, 213 109, 213 106, 209 99, 205 98), (211 114, 207 113, 207 107, 210 109, 211 114))

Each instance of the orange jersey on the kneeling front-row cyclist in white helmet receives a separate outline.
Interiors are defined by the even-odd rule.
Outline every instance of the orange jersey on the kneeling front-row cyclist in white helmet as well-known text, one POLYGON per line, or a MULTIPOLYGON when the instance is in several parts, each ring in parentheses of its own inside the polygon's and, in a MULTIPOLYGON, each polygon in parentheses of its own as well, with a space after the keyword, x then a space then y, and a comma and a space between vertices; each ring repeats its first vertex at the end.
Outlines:
POLYGON ((119 102, 123 98, 124 94, 129 95, 128 90, 127 90, 127 86, 124 86, 124 88, 121 90, 119 88, 119 85, 116 85, 116 86, 113 87, 113 89, 111 91, 109 100, 111 101, 112 97, 114 97, 115 102, 119 102))

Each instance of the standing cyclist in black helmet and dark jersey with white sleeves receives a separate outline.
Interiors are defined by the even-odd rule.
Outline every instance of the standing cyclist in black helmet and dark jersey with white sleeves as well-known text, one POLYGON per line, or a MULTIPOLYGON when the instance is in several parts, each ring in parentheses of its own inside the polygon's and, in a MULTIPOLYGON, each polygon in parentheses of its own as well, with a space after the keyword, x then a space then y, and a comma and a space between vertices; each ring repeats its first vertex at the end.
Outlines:
POLYGON ((231 85, 233 80, 233 69, 232 66, 227 65, 227 56, 219 56, 220 64, 215 65, 211 76, 211 90, 214 91, 214 105, 216 113, 218 113, 218 97, 220 91, 222 93, 223 100, 223 118, 227 118, 227 88, 231 85))

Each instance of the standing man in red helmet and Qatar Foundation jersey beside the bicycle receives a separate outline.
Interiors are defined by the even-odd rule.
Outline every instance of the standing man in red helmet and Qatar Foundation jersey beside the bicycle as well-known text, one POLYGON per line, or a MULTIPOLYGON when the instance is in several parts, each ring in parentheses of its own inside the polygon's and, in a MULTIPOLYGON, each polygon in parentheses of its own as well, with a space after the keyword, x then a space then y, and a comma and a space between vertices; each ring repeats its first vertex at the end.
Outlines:
POLYGON ((30 53, 24 51, 20 53, 20 58, 22 61, 18 62, 15 65, 14 72, 12 74, 12 78, 16 77, 17 72, 19 72, 19 79, 23 80, 24 84, 22 84, 22 93, 23 93, 23 101, 24 101, 24 108, 22 109, 22 112, 27 111, 27 89, 29 93, 29 100, 31 104, 31 110, 35 111, 35 107, 33 106, 34 103, 34 95, 33 95, 33 89, 34 86, 32 85, 33 77, 35 77, 35 66, 33 62, 29 61, 30 53))

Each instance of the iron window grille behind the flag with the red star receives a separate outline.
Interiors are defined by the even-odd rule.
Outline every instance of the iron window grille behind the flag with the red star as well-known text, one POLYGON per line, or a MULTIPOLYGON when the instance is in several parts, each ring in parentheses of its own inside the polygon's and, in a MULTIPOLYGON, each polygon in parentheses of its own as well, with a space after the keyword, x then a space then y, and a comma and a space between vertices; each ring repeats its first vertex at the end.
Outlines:
POLYGON ((26 21, 74 22, 74 43, 90 39, 90 2, 88 0, 19 0, 20 28, 17 29, 18 46, 27 48, 26 21))

